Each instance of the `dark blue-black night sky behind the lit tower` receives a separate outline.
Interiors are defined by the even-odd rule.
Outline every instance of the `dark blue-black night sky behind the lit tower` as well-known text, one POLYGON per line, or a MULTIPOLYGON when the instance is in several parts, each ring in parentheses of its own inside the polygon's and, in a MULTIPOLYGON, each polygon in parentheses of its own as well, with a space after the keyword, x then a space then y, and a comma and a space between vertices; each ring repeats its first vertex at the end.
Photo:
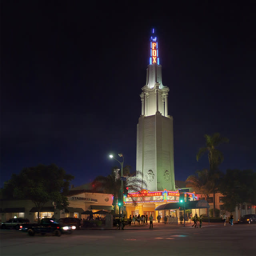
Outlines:
POLYGON ((176 180, 208 168, 206 155, 195 156, 214 132, 230 139, 219 147, 222 171, 256 170, 253 1, 169 4, 1 1, 1 187, 39 163, 64 168, 79 186, 118 165, 110 153, 136 169, 153 27, 176 180))

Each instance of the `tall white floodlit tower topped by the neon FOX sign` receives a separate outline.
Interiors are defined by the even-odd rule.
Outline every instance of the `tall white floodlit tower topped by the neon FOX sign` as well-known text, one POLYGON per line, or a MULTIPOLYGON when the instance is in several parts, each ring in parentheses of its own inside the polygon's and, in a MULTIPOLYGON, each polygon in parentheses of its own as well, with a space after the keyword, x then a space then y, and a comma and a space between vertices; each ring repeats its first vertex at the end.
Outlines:
POLYGON ((169 88, 162 84, 158 40, 152 29, 146 84, 140 94, 136 152, 136 170, 142 172, 150 191, 175 191, 173 118, 168 115, 168 92, 169 88))

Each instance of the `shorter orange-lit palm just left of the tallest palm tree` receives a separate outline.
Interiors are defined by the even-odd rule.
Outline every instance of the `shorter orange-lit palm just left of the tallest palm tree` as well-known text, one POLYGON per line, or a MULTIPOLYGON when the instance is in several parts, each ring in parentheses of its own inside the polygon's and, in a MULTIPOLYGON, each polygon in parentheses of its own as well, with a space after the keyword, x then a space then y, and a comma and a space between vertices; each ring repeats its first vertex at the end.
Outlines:
MULTIPOLYGON (((188 176, 186 186, 192 187, 196 192, 204 195, 207 201, 212 192, 212 182, 209 179, 209 171, 207 169, 202 171, 198 170, 194 175, 188 176)), ((208 208, 206 208, 206 214, 208 215, 208 208)))

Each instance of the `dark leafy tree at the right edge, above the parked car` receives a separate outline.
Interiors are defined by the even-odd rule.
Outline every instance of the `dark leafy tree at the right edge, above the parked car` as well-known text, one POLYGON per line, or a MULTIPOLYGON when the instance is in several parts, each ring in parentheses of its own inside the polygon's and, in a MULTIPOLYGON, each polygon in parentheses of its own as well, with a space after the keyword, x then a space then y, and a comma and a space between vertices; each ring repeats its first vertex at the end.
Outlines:
POLYGON ((256 173, 252 170, 228 169, 221 180, 219 190, 224 195, 226 210, 233 212, 238 206, 241 216, 244 202, 256 203, 256 173))

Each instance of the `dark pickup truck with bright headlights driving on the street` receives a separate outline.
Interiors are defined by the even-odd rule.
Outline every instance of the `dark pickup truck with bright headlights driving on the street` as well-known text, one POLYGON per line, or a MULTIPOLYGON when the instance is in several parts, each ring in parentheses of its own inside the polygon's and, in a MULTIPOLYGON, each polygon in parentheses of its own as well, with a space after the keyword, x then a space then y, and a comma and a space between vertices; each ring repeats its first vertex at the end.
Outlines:
POLYGON ((56 220, 44 218, 41 220, 40 224, 38 223, 28 223, 20 225, 20 229, 22 231, 27 231, 30 236, 34 236, 35 234, 46 234, 50 233, 54 236, 60 236, 62 233, 72 233, 75 226, 69 226, 65 224, 60 224, 56 222, 56 220))

